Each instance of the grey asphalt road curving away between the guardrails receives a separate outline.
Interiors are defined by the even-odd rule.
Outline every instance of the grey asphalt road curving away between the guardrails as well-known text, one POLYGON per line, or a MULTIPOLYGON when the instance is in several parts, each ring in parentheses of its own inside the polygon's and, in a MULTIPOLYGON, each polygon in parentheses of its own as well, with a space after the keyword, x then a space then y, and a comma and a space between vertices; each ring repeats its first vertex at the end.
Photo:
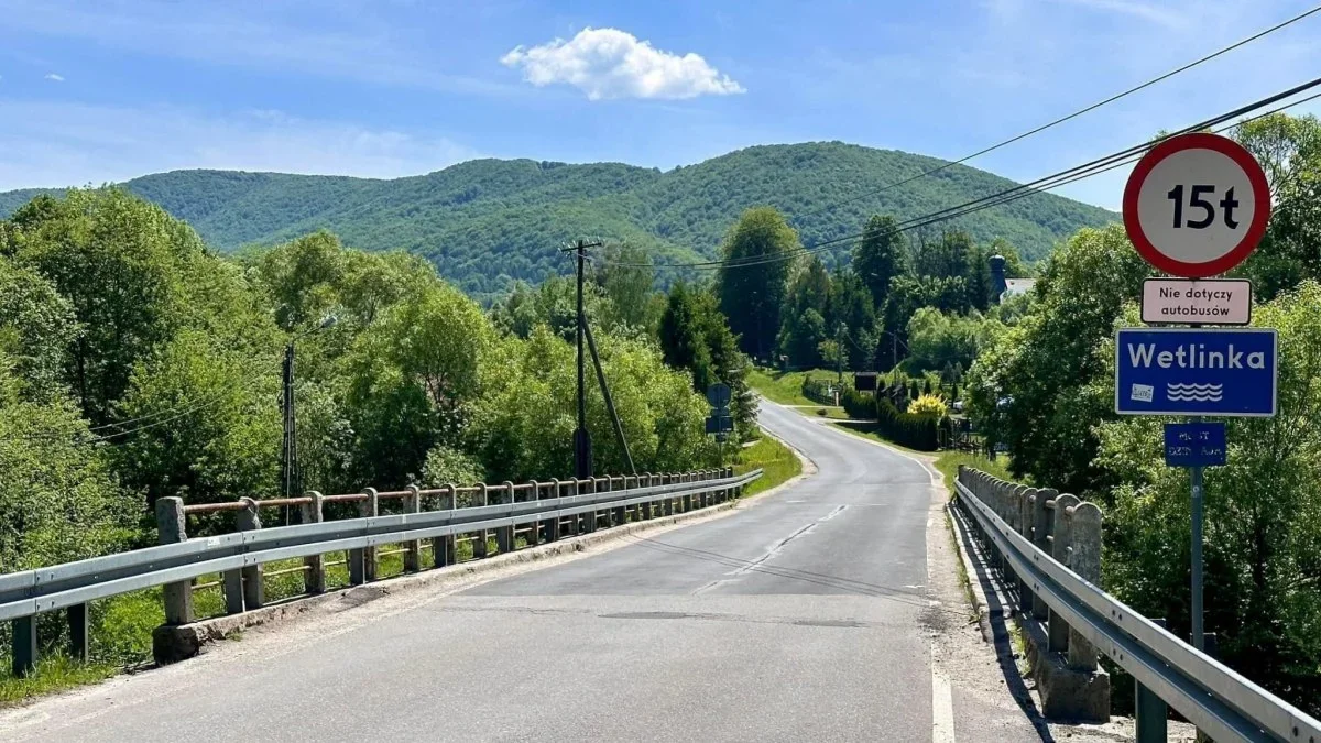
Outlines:
POLYGON ((819 472, 608 551, 250 632, 8 713, 0 740, 909 742, 952 739, 954 713, 963 740, 980 713, 933 677, 966 609, 927 591, 931 475, 778 406, 762 423, 819 472))

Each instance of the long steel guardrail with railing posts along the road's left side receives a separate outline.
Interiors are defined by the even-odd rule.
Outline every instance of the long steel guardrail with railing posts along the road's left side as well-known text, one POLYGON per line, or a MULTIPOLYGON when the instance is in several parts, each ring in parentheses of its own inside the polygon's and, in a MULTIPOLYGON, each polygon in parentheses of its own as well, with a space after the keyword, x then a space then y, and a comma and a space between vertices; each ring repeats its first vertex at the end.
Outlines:
MULTIPOLYGON (((321 521, 320 505, 329 498, 313 493, 308 498, 288 498, 316 504, 313 518, 305 518, 310 522, 269 529, 262 529, 259 521, 251 521, 263 501, 244 498, 239 506, 189 506, 194 513, 238 510, 239 528, 247 529, 194 539, 189 539, 184 529, 189 508, 178 498, 161 498, 157 502, 157 516, 168 514, 168 518, 159 518, 161 541, 172 543, 0 575, 0 621, 13 621, 15 674, 25 676, 37 661, 38 613, 67 608, 73 654, 86 658, 87 603, 96 599, 165 586, 166 624, 185 624, 193 620, 190 582, 203 575, 223 574, 221 583, 226 587, 227 611, 235 613, 235 609, 244 609, 244 598, 248 599, 246 608, 260 606, 260 566, 268 562, 305 558, 309 563, 316 561, 314 571, 324 571, 326 553, 347 550, 350 583, 361 584, 375 578, 375 547, 380 545, 411 543, 403 551, 416 555, 420 539, 435 539, 435 566, 444 567, 454 562, 453 545, 458 534, 480 534, 481 554, 474 549, 474 557, 485 557, 487 530, 497 531, 499 551, 510 551, 515 549, 514 531, 519 525, 523 526, 522 531, 530 533, 528 545, 538 543, 543 534, 546 541, 555 541, 561 535, 579 533, 580 528, 581 531, 592 531, 601 518, 608 520, 608 525, 624 524, 626 509, 634 510, 635 520, 645 520, 731 500, 745 485, 761 477, 761 473, 758 468, 734 476, 732 468, 725 468, 683 475, 643 475, 641 480, 635 476, 568 480, 564 485, 573 490, 568 496, 559 496, 561 484, 552 481, 557 497, 548 498, 539 498, 538 493, 542 485, 551 483, 506 483, 493 488, 446 487, 432 493, 448 493, 449 508, 428 512, 417 510, 419 496, 425 490, 415 488, 402 492, 413 498, 408 513, 339 521, 321 521), (610 489, 616 481, 624 488, 610 489), (639 487, 639 483, 646 485, 639 487), (598 489, 598 484, 605 489, 598 489), (456 508, 454 494, 461 490, 480 492, 483 504, 487 490, 503 490, 509 494, 509 502, 456 508), (518 501, 518 492, 530 494, 531 500, 518 501), (247 526, 244 518, 248 520, 247 526)), ((369 489, 363 498, 354 500, 370 504, 374 510, 378 497, 379 493, 369 489)), ((410 562, 407 558, 406 554, 406 567, 410 571, 420 570, 419 561, 410 562)), ((325 591, 324 572, 320 574, 320 580, 310 579, 308 586, 309 594, 325 591)))

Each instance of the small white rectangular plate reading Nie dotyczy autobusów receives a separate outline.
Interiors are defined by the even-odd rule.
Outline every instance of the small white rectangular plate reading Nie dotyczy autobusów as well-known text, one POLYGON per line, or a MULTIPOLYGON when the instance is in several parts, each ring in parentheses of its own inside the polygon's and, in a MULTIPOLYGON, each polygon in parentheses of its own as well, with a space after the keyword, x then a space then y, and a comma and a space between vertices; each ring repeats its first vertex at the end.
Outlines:
POLYGON ((1252 320, 1252 282, 1246 279, 1147 279, 1143 323, 1247 325, 1252 320))

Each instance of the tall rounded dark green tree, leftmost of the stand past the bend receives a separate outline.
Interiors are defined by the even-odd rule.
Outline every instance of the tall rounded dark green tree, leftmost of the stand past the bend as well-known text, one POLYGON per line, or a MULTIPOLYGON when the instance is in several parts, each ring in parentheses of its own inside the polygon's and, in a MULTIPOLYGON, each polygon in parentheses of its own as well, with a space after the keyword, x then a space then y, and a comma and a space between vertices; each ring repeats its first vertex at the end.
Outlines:
POLYGON ((801 247, 785 217, 769 206, 744 212, 725 237, 716 283, 720 311, 745 353, 764 360, 770 356, 779 331, 789 262, 801 247))

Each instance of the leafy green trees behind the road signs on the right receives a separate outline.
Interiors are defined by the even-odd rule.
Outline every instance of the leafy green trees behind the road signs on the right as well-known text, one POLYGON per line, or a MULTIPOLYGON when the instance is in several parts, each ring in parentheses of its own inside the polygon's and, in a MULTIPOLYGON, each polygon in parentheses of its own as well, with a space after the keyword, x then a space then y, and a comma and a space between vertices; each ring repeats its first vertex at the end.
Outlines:
MULTIPOLYGON (((1252 324, 1279 329, 1280 412, 1226 419, 1227 464, 1206 471, 1206 629, 1229 665, 1318 714, 1321 124, 1272 115, 1234 136, 1271 177, 1269 229, 1234 275, 1254 283, 1252 324)), ((1114 414, 1114 333, 1141 325, 1152 275, 1119 226, 1082 230, 1046 260, 1021 320, 983 349, 967 393, 1020 479, 1102 504, 1106 588, 1186 637, 1189 475, 1164 464, 1169 418, 1114 414)))

